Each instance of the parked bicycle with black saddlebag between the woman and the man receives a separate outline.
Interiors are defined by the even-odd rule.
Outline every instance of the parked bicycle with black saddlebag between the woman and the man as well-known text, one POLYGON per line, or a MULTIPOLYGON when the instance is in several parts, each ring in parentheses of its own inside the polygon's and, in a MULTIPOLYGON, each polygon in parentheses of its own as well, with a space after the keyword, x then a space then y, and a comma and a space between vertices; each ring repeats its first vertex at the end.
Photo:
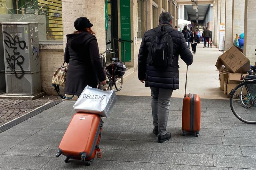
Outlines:
MULTIPOLYGON (((109 43, 109 42, 107 42, 107 43, 109 43)), ((120 91, 123 86, 123 76, 117 75, 116 68, 115 68, 115 62, 118 62, 119 58, 111 57, 110 58, 110 61, 112 62, 111 65, 107 67, 107 64, 106 64, 106 53, 116 54, 115 51, 117 51, 117 49, 107 48, 107 50, 105 52, 100 53, 102 67, 105 71, 106 78, 107 78, 107 85, 105 85, 105 86, 103 85, 102 90, 112 90, 113 86, 115 85, 116 90, 120 91)))

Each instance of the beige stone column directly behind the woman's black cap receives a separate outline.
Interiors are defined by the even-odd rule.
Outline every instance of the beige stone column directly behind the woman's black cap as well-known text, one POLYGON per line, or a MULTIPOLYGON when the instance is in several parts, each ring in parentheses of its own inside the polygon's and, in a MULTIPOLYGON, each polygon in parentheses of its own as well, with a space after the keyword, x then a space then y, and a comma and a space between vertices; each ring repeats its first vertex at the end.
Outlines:
MULTIPOLYGON (((105 35, 105 3, 104 0, 66 0, 62 1, 63 42, 67 42, 66 35, 74 32, 74 21, 79 17, 87 17, 94 25, 99 50, 106 49, 105 35)), ((63 46, 65 48, 65 45, 63 46)))

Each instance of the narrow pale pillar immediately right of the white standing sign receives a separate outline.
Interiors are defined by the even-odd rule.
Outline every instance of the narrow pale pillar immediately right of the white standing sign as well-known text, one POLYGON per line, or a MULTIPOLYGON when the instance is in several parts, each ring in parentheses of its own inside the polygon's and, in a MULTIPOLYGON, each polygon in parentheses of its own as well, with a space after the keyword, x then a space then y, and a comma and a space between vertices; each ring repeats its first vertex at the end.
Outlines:
POLYGON ((226 15, 225 15, 225 45, 224 51, 227 51, 233 45, 232 40, 232 12, 233 0, 226 0, 226 15))

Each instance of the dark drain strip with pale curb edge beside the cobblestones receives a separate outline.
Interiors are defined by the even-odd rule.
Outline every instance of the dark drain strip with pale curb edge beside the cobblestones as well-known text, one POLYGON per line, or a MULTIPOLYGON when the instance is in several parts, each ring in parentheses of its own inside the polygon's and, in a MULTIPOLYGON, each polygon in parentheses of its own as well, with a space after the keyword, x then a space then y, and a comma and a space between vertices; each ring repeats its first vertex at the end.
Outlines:
POLYGON ((28 120, 29 118, 43 112, 44 110, 47 110, 47 109, 61 103, 62 101, 64 101, 64 100, 57 100, 57 101, 47 102, 44 105, 42 105, 40 107, 37 107, 36 109, 28 112, 27 114, 22 115, 20 117, 17 117, 16 119, 13 119, 10 122, 7 122, 7 123, 3 124, 2 126, 0 126, 0 133, 4 132, 7 129, 12 128, 13 126, 15 126, 15 125, 17 125, 21 122, 24 122, 25 120, 28 120))

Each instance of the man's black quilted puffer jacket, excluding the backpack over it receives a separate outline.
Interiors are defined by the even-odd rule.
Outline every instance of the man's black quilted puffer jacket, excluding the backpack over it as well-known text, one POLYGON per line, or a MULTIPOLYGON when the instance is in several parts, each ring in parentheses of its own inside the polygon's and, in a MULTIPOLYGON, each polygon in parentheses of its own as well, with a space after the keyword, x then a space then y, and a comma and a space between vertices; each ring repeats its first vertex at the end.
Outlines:
POLYGON ((166 30, 171 34, 173 41, 174 59, 171 67, 158 68, 149 66, 147 63, 149 46, 151 38, 156 31, 148 30, 140 45, 138 58, 138 77, 139 80, 146 79, 146 87, 158 87, 164 89, 179 89, 179 55, 180 58, 187 64, 193 62, 193 55, 188 49, 186 40, 180 31, 174 30, 170 23, 161 22, 159 26, 164 25, 166 30))

